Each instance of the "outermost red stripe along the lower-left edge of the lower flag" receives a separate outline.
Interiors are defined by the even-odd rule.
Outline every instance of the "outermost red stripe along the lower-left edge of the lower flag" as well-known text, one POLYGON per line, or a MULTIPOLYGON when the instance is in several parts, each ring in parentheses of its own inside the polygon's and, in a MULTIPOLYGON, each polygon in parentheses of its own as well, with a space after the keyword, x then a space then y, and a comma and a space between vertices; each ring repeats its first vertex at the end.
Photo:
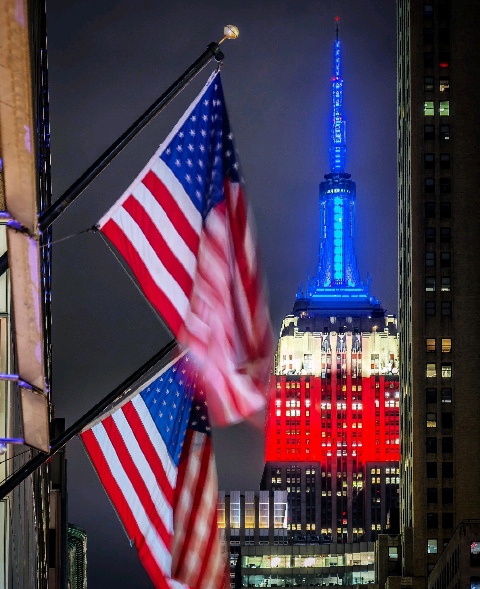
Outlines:
POLYGON ((114 508, 117 510, 118 516, 125 526, 128 537, 135 541, 138 557, 150 576, 152 583, 157 589, 171 589, 165 579, 164 572, 158 566, 153 554, 151 554, 150 548, 148 548, 148 544, 145 542, 145 538, 141 533, 140 528, 138 528, 134 515, 131 512, 130 507, 128 507, 128 503, 110 471, 110 467, 105 460, 105 456, 101 451, 97 438, 95 438, 91 429, 88 429, 81 434, 81 438, 82 442, 85 444, 85 448, 87 448, 90 458, 92 459, 101 484, 104 486, 108 497, 110 497, 114 508))

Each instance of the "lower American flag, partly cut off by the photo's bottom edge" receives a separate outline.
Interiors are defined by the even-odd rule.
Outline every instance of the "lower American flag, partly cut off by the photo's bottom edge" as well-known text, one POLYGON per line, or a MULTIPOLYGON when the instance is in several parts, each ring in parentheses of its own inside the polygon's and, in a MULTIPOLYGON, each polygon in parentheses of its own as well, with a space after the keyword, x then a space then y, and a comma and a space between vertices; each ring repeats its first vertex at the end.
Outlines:
POLYGON ((220 589, 217 473, 203 378, 188 354, 81 434, 155 587, 220 589))

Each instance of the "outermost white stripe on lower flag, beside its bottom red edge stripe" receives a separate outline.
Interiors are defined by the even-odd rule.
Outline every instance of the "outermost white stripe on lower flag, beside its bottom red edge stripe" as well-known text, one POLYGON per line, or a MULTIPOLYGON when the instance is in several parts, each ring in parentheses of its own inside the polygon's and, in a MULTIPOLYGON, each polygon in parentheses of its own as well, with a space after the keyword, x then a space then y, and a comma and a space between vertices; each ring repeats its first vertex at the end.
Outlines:
POLYGON ((133 517, 137 522, 141 534, 145 538, 145 542, 147 543, 155 562, 157 562, 161 570, 164 571, 164 574, 169 576, 171 573, 170 553, 161 538, 158 536, 150 519, 148 519, 145 509, 143 508, 127 473, 124 471, 123 466, 120 463, 117 452, 115 452, 115 448, 113 447, 110 438, 108 438, 103 423, 95 425, 95 427, 92 428, 92 432, 95 438, 97 438, 98 445, 105 457, 108 468, 110 468, 118 487, 120 487, 120 491, 122 492, 128 507, 130 507, 133 517))

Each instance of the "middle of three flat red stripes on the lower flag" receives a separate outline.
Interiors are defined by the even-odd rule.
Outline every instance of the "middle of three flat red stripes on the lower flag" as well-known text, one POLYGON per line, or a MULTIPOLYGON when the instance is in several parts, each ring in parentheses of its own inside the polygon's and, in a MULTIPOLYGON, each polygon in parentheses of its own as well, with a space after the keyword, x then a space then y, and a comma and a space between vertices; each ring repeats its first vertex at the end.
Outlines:
POLYGON ((165 547, 170 546, 170 533, 168 532, 167 528, 165 528, 165 524, 158 514, 157 508, 155 507, 151 495, 148 492, 147 485, 145 485, 140 472, 138 472, 137 466, 135 466, 135 463, 130 456, 130 452, 128 452, 127 446, 125 446, 125 442, 123 441, 120 431, 118 431, 117 424, 113 421, 113 418, 109 416, 107 419, 102 421, 102 425, 104 426, 105 431, 110 438, 112 446, 114 447, 115 453, 120 460, 120 464, 123 466, 125 474, 135 489, 135 493, 137 494, 138 499, 140 499, 140 502, 145 509, 145 513, 148 515, 148 519, 150 519, 155 530, 157 530, 158 535, 162 539, 165 547))

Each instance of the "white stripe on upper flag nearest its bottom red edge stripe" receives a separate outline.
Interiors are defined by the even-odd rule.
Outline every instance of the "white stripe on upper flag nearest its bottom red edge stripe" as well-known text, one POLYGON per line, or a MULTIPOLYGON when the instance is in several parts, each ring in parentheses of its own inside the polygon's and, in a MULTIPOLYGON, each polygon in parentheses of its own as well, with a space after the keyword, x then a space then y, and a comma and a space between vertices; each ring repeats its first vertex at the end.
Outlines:
POLYGON ((178 315, 184 318, 190 305, 187 296, 181 289, 180 284, 177 283, 170 272, 160 262, 153 247, 148 243, 141 227, 137 225, 123 207, 115 211, 112 220, 117 223, 135 250, 137 250, 138 255, 143 260, 155 284, 165 293, 165 296, 167 296, 171 304, 177 309, 178 315))

